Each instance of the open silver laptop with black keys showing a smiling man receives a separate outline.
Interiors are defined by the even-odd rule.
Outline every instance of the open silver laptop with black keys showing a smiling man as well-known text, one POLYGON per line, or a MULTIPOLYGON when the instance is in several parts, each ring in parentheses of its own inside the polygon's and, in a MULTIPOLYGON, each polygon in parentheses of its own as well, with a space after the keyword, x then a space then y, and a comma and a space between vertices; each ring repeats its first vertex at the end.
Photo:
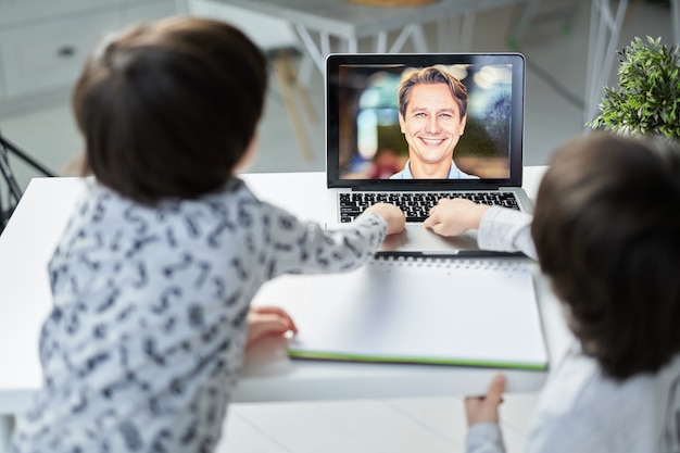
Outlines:
MULTIPOLYGON (((453 100, 451 89, 444 87, 448 91, 436 96, 436 102, 453 100)), ((410 92, 413 109, 423 103, 416 101, 416 96, 421 96, 417 92, 421 91, 413 88, 410 92)), ((402 207, 406 227, 403 232, 388 237, 379 255, 499 254, 480 250, 475 231, 444 238, 425 229, 421 223, 430 206, 443 197, 464 197, 531 212, 531 202, 521 189, 524 105, 525 59, 519 53, 328 55, 327 226, 352 222, 366 206, 386 201, 402 207), (453 164, 445 164, 449 173, 443 177, 418 175, 416 161, 420 159, 417 150, 420 142, 414 138, 417 134, 411 137, 411 148, 415 149, 412 152, 407 139, 411 126, 400 125, 400 80, 415 70, 430 66, 448 72, 463 84, 468 98, 467 112, 459 115, 466 117, 464 128, 459 134, 451 134, 459 137, 453 164)), ((444 106, 437 109, 440 106, 428 106, 424 113, 410 111, 403 117, 444 121, 451 116, 444 106)), ((437 129, 446 126, 421 127, 429 129, 428 144, 439 144, 437 129)), ((417 129, 417 126, 412 128, 417 129)), ((443 161, 450 163, 451 159, 442 158, 443 161)))

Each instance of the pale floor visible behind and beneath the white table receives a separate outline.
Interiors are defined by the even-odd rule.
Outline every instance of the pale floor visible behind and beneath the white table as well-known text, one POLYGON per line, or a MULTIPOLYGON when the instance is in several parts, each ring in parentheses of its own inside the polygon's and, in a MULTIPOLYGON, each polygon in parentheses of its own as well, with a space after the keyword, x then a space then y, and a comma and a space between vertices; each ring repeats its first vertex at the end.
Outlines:
MULTIPOLYGON (((590 2, 545 1, 559 10, 578 5, 570 27, 562 21, 532 26, 518 50, 528 61, 526 98, 526 151, 528 165, 546 162, 556 144, 583 128, 582 99, 585 86, 590 2)), ((512 8, 490 10, 476 17, 473 49, 505 51, 512 8)), ((428 30, 432 32, 432 30, 428 30)), ((633 36, 670 38, 668 9, 633 2, 619 46, 633 36)), ((612 84, 615 78, 612 78, 612 84)), ((314 159, 305 161, 298 147, 276 85, 267 100, 260 127, 261 151, 252 172, 324 169, 324 130, 310 124, 314 159)), ((308 92, 323 118, 323 80, 311 72, 308 92)), ((26 152, 56 172, 75 158, 80 139, 67 104, 54 104, 14 116, 0 116, 0 130, 26 152)), ((20 183, 36 174, 15 163, 20 183)), ((1 187, 1 185, 0 185, 1 187)), ((4 189, 4 188, 3 188, 4 189)), ((534 395, 507 395, 502 405, 508 451, 524 448, 528 416, 534 395)), ((228 437, 221 452, 458 452, 463 451, 465 420, 459 398, 347 401, 315 403, 235 404, 226 424, 228 437)))

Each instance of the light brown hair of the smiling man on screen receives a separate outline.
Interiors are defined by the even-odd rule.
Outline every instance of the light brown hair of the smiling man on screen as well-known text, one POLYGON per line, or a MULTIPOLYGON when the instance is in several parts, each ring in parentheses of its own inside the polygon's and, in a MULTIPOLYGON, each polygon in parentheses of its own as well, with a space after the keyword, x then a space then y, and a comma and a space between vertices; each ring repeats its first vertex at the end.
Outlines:
POLYGON ((420 67, 417 70, 407 71, 402 75, 399 84, 399 113, 403 117, 406 117, 406 110, 408 109, 408 101, 411 98, 411 90, 416 85, 435 85, 444 84, 449 86, 451 96, 458 105, 458 112, 461 119, 467 114, 467 88, 461 80, 455 78, 444 66, 435 65, 420 67))

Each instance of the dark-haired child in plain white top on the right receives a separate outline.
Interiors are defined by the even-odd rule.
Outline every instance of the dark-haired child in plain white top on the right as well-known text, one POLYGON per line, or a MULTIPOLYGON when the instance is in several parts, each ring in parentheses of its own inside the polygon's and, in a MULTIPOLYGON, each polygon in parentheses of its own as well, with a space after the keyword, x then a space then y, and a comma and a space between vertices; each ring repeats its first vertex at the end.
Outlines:
MULTIPOLYGON (((558 149, 533 219, 443 201, 426 227, 538 256, 578 342, 552 370, 532 453, 680 451, 680 149, 595 133, 558 149), (533 240, 531 240, 531 237, 533 240), (536 250, 534 250, 536 244, 536 250)), ((466 401, 468 452, 502 452, 498 376, 466 401)))

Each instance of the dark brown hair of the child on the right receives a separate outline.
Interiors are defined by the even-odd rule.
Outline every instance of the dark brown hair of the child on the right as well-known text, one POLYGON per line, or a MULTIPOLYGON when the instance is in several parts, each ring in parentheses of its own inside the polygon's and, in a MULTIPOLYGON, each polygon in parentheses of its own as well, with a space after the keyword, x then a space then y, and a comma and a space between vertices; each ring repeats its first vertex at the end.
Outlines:
POLYGON ((593 133, 552 156, 531 226, 571 330, 604 373, 655 373, 680 351, 680 149, 593 133))

